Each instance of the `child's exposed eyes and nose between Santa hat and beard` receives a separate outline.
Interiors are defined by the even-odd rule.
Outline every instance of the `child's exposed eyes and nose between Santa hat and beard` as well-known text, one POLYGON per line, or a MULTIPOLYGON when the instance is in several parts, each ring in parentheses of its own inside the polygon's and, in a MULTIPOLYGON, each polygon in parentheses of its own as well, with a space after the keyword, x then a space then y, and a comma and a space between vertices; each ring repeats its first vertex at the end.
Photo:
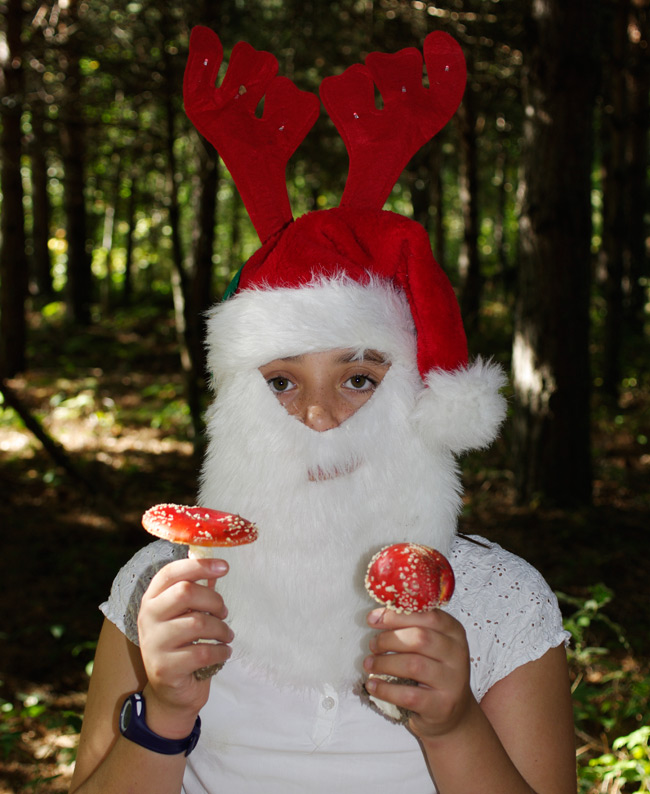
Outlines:
POLYGON ((269 361, 259 370, 291 416, 312 430, 338 427, 368 402, 390 363, 376 350, 327 350, 269 361))

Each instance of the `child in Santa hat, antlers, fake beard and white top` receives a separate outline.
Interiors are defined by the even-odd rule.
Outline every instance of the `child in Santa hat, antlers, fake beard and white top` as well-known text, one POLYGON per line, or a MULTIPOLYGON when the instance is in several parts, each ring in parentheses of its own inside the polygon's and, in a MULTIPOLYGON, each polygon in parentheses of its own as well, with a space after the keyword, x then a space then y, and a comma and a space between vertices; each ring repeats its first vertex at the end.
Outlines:
POLYGON ((264 244, 210 317, 216 397, 199 503, 254 521, 259 540, 209 561, 159 541, 120 572, 71 791, 575 792, 557 602, 525 562, 456 533, 455 455, 495 436, 503 376, 468 363, 424 229, 381 210, 409 114, 430 135, 460 101, 462 54, 427 38, 428 91, 412 50, 329 78, 321 93, 351 158, 345 206, 292 222, 269 192, 271 152, 290 156, 309 102, 250 48, 235 48, 214 89, 219 47, 193 32, 186 107, 231 158, 264 244), (382 111, 358 93, 368 79, 382 111), (376 146, 360 156, 393 111, 400 124, 380 124, 393 136, 386 158, 376 146), (246 120, 264 132, 250 150, 246 120), (369 608, 365 567, 399 541, 450 557, 444 610, 369 608), (193 674, 222 662, 211 681, 193 674), (407 724, 374 710, 364 684, 408 709, 407 724))

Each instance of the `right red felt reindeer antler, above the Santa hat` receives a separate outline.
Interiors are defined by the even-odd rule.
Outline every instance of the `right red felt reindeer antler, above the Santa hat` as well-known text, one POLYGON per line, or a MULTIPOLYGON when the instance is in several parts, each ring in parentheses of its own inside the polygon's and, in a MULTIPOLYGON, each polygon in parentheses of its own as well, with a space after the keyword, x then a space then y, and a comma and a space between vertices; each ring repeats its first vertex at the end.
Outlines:
POLYGON ((321 83, 321 99, 350 160, 341 206, 381 209, 411 157, 456 112, 467 79, 460 46, 446 33, 430 33, 424 60, 428 89, 422 85, 422 56, 413 47, 370 53, 365 66, 356 64, 321 83), (375 106, 373 81, 382 110, 375 106))

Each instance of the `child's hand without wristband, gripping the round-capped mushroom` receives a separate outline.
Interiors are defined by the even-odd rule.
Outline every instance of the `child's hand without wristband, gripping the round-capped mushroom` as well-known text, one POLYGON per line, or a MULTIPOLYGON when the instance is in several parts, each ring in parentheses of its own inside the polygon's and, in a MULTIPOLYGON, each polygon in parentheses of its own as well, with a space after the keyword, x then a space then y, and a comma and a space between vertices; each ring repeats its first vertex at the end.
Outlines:
POLYGON ((473 705, 469 650, 461 624, 440 609, 411 615, 375 609, 368 623, 379 634, 370 641, 372 655, 364 661, 365 670, 419 684, 373 678, 366 682, 368 691, 413 712, 409 728, 420 738, 454 730, 473 705))

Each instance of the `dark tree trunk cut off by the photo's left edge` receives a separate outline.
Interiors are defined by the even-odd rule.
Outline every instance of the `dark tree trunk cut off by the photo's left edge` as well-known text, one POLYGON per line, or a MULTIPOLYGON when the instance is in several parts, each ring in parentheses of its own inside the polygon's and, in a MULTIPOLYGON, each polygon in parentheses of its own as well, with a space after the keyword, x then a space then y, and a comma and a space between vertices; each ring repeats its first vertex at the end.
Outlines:
POLYGON ((28 268, 25 254, 23 185, 20 174, 21 117, 24 95, 23 12, 21 0, 5 8, 6 54, 2 61, 2 249, 0 250, 0 374, 12 377, 26 366, 25 300, 28 268))

